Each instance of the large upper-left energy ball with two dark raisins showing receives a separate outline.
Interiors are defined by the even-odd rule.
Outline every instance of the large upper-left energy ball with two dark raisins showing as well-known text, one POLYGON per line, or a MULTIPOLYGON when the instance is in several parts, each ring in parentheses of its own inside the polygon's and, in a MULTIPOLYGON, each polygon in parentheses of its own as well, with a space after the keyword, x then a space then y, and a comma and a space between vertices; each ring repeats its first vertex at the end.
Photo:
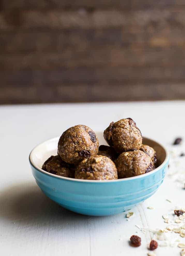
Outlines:
POLYGON ((58 155, 63 161, 78 164, 98 154, 98 138, 88 126, 76 125, 67 129, 58 141, 58 155))

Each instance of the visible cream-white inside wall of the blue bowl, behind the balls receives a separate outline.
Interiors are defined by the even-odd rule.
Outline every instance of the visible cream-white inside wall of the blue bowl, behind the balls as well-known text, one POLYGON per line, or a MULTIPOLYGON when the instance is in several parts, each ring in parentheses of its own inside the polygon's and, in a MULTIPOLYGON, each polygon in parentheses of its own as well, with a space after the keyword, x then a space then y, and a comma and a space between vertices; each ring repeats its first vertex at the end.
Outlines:
MULTIPOLYGON (((105 140, 103 139, 102 132, 96 133, 99 139, 99 145, 107 144, 105 140)), ((38 146, 36 146, 31 155, 30 159, 34 166, 42 168, 43 163, 51 156, 51 155, 57 155, 57 145, 58 145, 59 137, 56 137, 54 139, 45 141, 38 146)), ((143 144, 149 145, 153 147, 157 152, 157 158, 158 158, 158 166, 161 165, 165 158, 166 158, 166 151, 165 149, 157 142, 147 139, 143 137, 143 144)))

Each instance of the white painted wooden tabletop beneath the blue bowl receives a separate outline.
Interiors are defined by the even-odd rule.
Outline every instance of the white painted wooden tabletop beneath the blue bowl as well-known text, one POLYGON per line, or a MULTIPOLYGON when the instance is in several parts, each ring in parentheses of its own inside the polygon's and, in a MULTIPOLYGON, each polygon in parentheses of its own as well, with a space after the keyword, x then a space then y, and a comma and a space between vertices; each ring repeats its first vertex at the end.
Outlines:
MULTIPOLYGON (((147 255, 153 237, 147 228, 165 228, 162 214, 171 214, 175 205, 185 207, 183 184, 174 175, 168 174, 156 194, 132 209, 134 215, 129 220, 125 213, 89 217, 69 212, 48 199, 35 183, 28 156, 36 144, 61 135, 73 125, 86 124, 102 131, 111 121, 126 117, 136 121, 144 136, 171 149, 175 137, 184 137, 184 116, 185 101, 1 106, 1 255, 147 255), (146 232, 135 225, 145 227, 146 232), (142 239, 138 248, 129 245, 133 234, 142 239)), ((183 149, 183 145, 175 147, 177 151, 183 149)), ((185 157, 175 158, 170 172, 178 170, 179 161, 183 165, 185 157)), ((181 169, 181 181, 183 175, 181 169)), ((169 233, 168 237, 185 242, 179 234, 169 233)), ((180 251, 177 246, 167 246, 158 247, 155 253, 174 256, 180 251)))

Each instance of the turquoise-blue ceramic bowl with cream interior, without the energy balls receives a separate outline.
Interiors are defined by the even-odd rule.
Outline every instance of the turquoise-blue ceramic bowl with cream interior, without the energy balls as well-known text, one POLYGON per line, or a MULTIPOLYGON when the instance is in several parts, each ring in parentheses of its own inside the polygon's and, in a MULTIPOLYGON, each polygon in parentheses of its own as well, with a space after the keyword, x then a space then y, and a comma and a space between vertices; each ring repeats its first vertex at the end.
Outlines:
POLYGON ((153 195, 164 180, 169 154, 164 146, 147 138, 143 138, 143 144, 156 150, 159 161, 159 167, 152 172, 107 181, 65 178, 45 172, 41 166, 49 156, 57 154, 58 139, 36 146, 29 155, 29 161, 41 190, 70 211, 94 216, 126 212, 153 195))

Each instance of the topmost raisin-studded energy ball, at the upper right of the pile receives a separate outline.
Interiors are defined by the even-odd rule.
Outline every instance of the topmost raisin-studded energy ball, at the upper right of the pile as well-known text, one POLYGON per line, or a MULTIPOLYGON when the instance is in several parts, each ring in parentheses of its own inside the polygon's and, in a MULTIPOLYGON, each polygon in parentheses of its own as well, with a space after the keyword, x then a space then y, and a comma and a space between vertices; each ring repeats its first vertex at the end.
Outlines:
POLYGON ((103 137, 120 154, 130 149, 139 149, 142 145, 141 132, 130 117, 110 123, 103 137))

